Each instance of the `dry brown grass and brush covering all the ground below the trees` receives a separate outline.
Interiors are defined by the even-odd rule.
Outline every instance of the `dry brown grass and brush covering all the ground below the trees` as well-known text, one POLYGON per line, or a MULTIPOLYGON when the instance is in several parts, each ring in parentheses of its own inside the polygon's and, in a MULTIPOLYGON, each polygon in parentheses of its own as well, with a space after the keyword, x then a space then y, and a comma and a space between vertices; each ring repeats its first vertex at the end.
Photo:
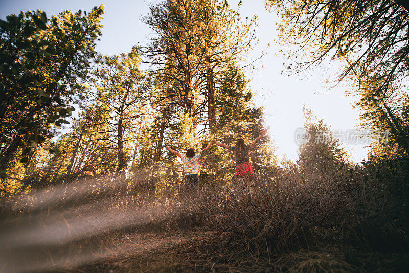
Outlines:
POLYGON ((286 170, 260 175, 258 189, 211 177, 212 188, 192 192, 178 186, 136 207, 126 192, 100 191, 95 181, 92 192, 85 187, 82 195, 74 195, 79 184, 59 198, 49 191, 33 194, 14 208, 12 202, 3 207, 8 211, 1 225, 0 270, 409 268, 406 188, 392 174, 371 175, 362 168, 306 179, 286 170))

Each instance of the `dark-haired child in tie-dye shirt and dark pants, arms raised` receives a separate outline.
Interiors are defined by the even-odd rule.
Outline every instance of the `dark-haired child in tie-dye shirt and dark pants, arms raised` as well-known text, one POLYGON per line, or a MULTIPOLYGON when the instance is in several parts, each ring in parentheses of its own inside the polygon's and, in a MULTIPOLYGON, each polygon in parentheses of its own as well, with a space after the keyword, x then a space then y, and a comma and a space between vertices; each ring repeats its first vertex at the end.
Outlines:
POLYGON ((186 183, 188 187, 196 188, 199 185, 199 170, 200 170, 200 158, 205 154, 207 150, 209 150, 210 146, 212 146, 216 140, 212 140, 209 145, 203 149, 200 153, 195 154, 195 151, 192 148, 189 148, 186 151, 186 155, 183 155, 175 150, 172 150, 168 145, 165 148, 172 152, 173 154, 179 156, 183 161, 184 168, 185 168, 185 177, 186 183))

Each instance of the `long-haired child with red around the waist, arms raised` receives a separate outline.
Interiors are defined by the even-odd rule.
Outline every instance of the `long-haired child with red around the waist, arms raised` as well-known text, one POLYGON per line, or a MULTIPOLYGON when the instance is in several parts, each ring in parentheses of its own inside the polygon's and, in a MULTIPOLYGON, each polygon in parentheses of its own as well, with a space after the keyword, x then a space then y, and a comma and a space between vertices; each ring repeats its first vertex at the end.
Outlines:
POLYGON ((233 176, 233 182, 237 182, 242 177, 247 187, 254 185, 253 175, 254 168, 249 161, 248 151, 256 145, 256 143, 263 137, 268 127, 261 131, 261 134, 249 145, 244 143, 244 139, 238 139, 235 146, 229 146, 223 143, 215 142, 216 145, 234 152, 236 173, 233 176))

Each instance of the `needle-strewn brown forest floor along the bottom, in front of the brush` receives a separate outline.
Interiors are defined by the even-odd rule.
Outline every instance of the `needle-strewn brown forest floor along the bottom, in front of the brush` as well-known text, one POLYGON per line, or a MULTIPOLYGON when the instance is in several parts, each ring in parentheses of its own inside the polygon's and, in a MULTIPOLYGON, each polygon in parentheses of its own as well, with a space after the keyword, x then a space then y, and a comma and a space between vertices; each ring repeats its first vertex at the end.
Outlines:
MULTIPOLYGON (((206 230, 117 234, 92 262, 64 272, 360 272, 398 271, 408 253, 345 249, 338 245, 252 256, 229 244, 229 234, 206 230)), ((406 267, 407 268, 407 267, 406 267)))

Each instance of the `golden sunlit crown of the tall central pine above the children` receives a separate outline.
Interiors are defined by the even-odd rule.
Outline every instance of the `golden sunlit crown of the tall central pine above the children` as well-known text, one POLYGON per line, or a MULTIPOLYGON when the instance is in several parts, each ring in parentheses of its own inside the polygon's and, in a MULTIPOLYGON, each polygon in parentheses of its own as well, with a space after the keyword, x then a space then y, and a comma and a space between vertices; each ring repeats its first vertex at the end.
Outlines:
POLYGON ((157 101, 197 116, 194 127, 214 121, 215 77, 251 49, 256 16, 239 24, 227 1, 166 0, 151 5, 143 20, 157 34, 143 49, 155 67, 157 101))

